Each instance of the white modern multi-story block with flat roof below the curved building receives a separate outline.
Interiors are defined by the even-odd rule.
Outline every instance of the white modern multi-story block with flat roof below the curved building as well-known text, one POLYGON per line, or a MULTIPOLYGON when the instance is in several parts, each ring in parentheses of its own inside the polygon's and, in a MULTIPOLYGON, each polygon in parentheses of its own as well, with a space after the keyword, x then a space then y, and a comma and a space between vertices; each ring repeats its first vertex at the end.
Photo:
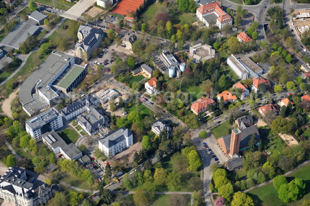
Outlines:
POLYGON ((63 122, 59 112, 55 108, 51 108, 27 120, 25 126, 27 133, 39 141, 42 134, 62 127, 63 122))

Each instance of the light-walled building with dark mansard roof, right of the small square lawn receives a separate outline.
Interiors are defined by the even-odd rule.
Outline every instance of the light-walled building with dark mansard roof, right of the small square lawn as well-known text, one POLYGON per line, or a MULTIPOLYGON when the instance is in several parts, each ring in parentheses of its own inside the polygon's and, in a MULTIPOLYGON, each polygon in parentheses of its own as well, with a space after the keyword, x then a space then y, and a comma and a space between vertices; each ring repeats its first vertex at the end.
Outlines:
POLYGON ((108 116, 96 105, 86 107, 86 111, 78 116, 77 121, 89 135, 97 134, 101 128, 108 127, 110 123, 108 116))

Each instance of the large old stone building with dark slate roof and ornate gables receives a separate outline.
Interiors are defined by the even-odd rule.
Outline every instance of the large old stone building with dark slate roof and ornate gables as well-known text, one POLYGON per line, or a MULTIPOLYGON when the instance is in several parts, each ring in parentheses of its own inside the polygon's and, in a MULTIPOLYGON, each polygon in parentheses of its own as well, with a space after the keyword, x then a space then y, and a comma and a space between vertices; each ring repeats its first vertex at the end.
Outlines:
POLYGON ((100 47, 102 39, 103 30, 101 28, 92 28, 88 24, 80 25, 75 55, 83 61, 87 61, 91 57, 91 52, 100 47))

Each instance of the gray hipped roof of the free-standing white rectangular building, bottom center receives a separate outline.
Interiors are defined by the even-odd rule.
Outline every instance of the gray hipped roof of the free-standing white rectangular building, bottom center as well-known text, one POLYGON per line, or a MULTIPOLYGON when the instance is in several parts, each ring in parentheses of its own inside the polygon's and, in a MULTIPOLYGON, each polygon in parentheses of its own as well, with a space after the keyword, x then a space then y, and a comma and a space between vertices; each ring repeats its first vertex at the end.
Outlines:
POLYGON ((109 148, 131 135, 132 132, 129 129, 121 127, 105 135, 102 139, 99 140, 99 142, 101 142, 105 147, 109 148))

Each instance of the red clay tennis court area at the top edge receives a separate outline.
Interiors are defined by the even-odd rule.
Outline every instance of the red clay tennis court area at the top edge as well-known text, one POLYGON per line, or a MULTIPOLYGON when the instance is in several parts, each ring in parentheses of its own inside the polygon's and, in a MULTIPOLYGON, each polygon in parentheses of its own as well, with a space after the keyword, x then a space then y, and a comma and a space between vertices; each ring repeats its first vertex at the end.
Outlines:
POLYGON ((135 12, 142 3, 143 0, 122 0, 112 12, 122 16, 128 16, 131 11, 135 12))

